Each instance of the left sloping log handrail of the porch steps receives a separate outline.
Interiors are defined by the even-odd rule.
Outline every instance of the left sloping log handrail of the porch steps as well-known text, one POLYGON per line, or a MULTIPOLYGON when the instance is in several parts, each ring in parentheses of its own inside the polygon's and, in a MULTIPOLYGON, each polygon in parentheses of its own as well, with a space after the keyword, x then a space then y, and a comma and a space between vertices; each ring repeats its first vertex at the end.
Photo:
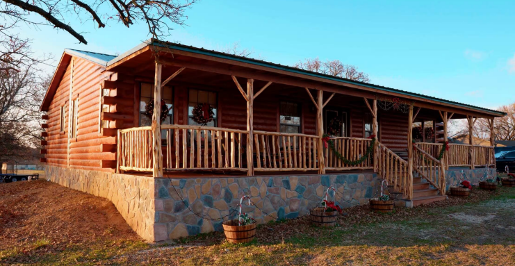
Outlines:
POLYGON ((400 158, 383 144, 377 145, 377 173, 383 179, 402 192, 408 199, 413 199, 413 179, 409 173, 407 161, 400 158))

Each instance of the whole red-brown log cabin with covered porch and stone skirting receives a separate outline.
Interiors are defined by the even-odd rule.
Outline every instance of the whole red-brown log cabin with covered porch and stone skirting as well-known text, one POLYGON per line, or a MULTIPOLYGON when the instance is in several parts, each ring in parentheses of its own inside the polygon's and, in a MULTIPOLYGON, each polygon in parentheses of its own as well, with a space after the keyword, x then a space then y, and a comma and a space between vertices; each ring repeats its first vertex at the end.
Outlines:
POLYGON ((325 196, 445 200, 495 174, 489 146, 449 144, 450 119, 505 113, 182 44, 120 56, 65 49, 41 110, 51 181, 105 197, 142 238, 219 231, 240 198, 257 222, 325 196), (386 191, 386 187, 385 187, 386 191))

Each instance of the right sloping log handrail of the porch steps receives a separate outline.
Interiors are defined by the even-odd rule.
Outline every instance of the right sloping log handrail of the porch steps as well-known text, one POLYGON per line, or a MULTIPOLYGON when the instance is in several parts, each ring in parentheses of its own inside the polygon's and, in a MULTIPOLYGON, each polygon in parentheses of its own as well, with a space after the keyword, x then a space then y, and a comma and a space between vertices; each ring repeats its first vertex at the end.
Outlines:
POLYGON ((437 160, 418 145, 414 145, 413 148, 414 171, 440 190, 441 195, 445 195, 445 166, 442 160, 437 160))

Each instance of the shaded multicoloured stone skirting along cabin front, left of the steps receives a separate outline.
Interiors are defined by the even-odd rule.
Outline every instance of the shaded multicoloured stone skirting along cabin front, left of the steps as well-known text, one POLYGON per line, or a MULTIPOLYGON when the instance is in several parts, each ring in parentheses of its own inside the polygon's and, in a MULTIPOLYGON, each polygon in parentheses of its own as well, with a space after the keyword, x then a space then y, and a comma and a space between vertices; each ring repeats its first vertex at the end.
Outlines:
MULTIPOLYGON (((259 224, 274 219, 308 215, 332 185, 343 195, 336 203, 350 207, 368 203, 377 195, 376 174, 329 174, 304 176, 250 176, 238 178, 156 178, 156 241, 222 231, 222 219, 236 218, 236 206, 243 195, 256 206, 243 212, 259 224), (191 209, 191 210, 190 210, 191 209), (265 213, 271 216, 265 215, 265 213), (193 212, 192 212, 193 210, 193 212)), ((329 193, 334 200, 333 192, 329 193)))

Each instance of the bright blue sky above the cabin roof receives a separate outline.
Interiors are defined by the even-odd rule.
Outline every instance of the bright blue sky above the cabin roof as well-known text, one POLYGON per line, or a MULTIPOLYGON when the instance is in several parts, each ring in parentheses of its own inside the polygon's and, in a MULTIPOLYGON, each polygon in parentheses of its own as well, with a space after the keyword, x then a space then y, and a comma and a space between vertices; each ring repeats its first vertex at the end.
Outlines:
MULTIPOLYGON (((515 1, 315 2, 202 0, 167 40, 207 49, 239 42, 283 65, 338 59, 379 85, 485 108, 515 102, 515 1)), ((65 48, 123 53, 148 38, 144 24, 71 24, 88 45, 50 27, 22 34, 57 59, 65 48)))

